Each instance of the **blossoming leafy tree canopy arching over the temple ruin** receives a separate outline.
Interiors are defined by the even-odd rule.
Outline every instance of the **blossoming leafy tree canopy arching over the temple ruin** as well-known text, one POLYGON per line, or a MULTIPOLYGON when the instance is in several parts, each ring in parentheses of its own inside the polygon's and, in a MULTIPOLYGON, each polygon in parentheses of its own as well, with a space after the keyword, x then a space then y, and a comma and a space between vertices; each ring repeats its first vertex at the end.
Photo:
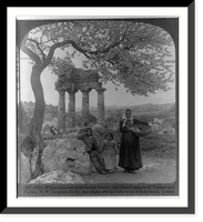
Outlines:
POLYGON ((148 23, 115 20, 67 21, 38 27, 21 48, 35 64, 59 74, 75 54, 103 82, 124 84, 132 94, 168 90, 174 78, 174 44, 170 34, 148 23), (54 53, 60 48, 64 56, 54 53))

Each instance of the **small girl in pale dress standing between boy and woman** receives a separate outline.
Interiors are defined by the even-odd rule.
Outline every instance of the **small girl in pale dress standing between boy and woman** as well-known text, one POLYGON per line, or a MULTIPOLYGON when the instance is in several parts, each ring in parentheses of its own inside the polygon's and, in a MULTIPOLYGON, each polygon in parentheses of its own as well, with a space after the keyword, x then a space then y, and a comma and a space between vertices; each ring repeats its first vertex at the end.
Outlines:
POLYGON ((115 154, 118 153, 118 143, 113 140, 113 133, 108 132, 105 140, 102 141, 103 160, 105 170, 110 173, 114 172, 115 168, 115 154))

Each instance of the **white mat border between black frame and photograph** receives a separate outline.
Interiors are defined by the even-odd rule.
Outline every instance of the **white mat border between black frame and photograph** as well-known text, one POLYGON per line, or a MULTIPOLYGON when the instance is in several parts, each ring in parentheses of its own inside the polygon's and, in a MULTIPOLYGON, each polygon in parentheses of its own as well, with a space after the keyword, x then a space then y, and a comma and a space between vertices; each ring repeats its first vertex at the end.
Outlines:
POLYGON ((29 206, 109 206, 179 208, 187 206, 187 8, 8 8, 8 208, 29 206), (16 18, 106 18, 106 17, 179 17, 180 26, 180 195, 179 198, 17 198, 16 149, 16 18), (67 14, 69 17, 67 17, 67 14), (126 16, 128 14, 128 16, 126 16))

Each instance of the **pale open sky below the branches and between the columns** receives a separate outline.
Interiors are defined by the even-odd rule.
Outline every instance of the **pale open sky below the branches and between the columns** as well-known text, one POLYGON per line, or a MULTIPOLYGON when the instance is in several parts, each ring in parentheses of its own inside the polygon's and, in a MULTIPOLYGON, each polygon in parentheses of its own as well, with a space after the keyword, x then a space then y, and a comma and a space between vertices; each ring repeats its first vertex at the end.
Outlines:
MULTIPOLYGON (((58 52, 59 53, 59 52, 58 52)), ((61 53, 61 52, 60 52, 61 53)), ((21 101, 32 101, 34 102, 33 92, 30 84, 30 75, 32 64, 29 63, 28 57, 21 51, 20 53, 20 97, 21 101)), ((74 64, 78 68, 81 68, 80 59, 74 60, 74 64)), ((47 68, 43 70, 41 74, 41 82, 44 91, 44 100, 47 104, 58 105, 59 93, 54 90, 54 82, 58 77, 47 68)), ((118 105, 118 107, 131 107, 139 105, 145 103, 172 103, 175 102, 175 81, 170 83, 172 88, 169 91, 156 91, 153 94, 144 95, 132 95, 130 92, 126 92, 126 89, 123 85, 116 87, 112 82, 103 83, 103 88, 105 88, 104 92, 104 103, 105 107, 118 105)), ((90 94, 90 107, 97 107, 98 103, 98 92, 92 89, 90 94)), ((69 94, 65 93, 65 107, 68 110, 69 103, 69 94)), ((79 91, 75 93, 75 108, 81 109, 82 105, 82 93, 79 91)))

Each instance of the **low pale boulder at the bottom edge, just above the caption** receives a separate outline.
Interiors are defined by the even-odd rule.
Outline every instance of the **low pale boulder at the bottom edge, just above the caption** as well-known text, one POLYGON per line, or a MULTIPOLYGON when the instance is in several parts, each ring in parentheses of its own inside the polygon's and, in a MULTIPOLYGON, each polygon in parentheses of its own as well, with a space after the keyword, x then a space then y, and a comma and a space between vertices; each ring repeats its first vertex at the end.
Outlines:
POLYGON ((63 171, 51 171, 48 173, 44 173, 34 180, 31 180, 29 183, 84 183, 82 178, 75 173, 72 173, 70 171, 63 172, 63 171))

